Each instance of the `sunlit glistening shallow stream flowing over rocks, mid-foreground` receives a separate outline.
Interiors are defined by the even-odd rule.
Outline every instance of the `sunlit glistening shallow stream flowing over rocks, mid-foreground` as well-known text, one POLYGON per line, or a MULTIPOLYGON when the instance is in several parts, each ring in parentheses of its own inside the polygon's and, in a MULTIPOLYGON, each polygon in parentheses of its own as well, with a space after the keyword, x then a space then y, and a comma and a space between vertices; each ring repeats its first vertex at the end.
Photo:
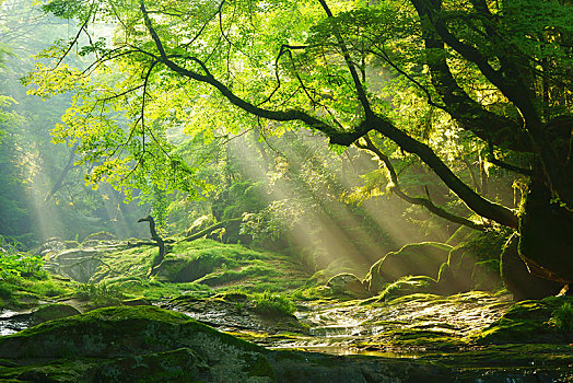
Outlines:
POLYGON ((448 298, 414 294, 391 302, 303 301, 293 318, 276 321, 258 315, 241 299, 173 300, 161 306, 271 349, 416 358, 425 349, 379 345, 408 332, 463 338, 486 328, 512 304, 510 294, 477 291, 448 298))

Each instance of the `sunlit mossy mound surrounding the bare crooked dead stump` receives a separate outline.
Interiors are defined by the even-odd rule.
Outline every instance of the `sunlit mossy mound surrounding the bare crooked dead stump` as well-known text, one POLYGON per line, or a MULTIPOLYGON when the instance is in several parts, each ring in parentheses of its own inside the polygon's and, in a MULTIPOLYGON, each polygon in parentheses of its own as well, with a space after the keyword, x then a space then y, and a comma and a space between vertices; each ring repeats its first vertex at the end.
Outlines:
POLYGON ((118 286, 129 297, 159 300, 175 298, 183 292, 208 295, 237 288, 246 292, 288 291, 304 286, 309 277, 284 255, 197 240, 176 243, 166 259, 202 259, 201 265, 208 272, 194 281, 173 283, 148 277, 155 253, 153 246, 110 253, 105 259, 109 267, 101 267, 94 279, 105 278, 108 285, 118 286))

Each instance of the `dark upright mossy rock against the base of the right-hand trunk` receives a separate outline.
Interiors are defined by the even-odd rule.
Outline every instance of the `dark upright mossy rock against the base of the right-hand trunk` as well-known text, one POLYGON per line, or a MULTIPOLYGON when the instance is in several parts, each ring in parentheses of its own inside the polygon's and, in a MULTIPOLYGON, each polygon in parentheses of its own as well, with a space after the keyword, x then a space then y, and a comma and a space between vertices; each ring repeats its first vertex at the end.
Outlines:
POLYGON ((514 300, 542 299, 558 294, 563 286, 529 274, 527 266, 517 253, 517 235, 512 236, 501 257, 503 285, 513 293, 514 300))

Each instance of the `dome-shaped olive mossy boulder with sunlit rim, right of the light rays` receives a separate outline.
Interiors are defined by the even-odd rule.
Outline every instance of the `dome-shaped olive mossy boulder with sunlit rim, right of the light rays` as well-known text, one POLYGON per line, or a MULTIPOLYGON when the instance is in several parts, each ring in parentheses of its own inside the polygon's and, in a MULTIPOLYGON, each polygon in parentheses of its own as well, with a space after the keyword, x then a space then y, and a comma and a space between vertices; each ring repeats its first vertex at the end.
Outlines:
POLYGON ((443 243, 422 242, 386 254, 366 275, 369 291, 377 293, 385 282, 394 282, 406 276, 437 278, 440 267, 447 262, 451 249, 452 246, 443 243))

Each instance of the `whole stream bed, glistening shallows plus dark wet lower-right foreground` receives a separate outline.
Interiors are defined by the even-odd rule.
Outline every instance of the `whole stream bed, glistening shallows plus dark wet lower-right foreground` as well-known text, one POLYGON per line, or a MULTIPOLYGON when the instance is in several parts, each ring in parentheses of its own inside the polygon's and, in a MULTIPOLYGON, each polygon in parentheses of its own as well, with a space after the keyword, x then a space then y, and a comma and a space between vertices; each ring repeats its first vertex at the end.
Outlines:
MULTIPOLYGON (((294 368, 303 358, 308 371, 334 363, 362 376, 384 365, 398 370, 412 365, 425 371, 422 375, 437 369, 452 382, 573 382, 572 345, 468 341, 513 304, 508 294, 472 291, 452 297, 412 294, 386 302, 299 301, 294 315, 260 313, 239 293, 183 295, 154 305, 278 352, 269 357, 277 363, 286 358, 294 368)), ((0 335, 31 324, 30 312, 0 312, 0 335)))

